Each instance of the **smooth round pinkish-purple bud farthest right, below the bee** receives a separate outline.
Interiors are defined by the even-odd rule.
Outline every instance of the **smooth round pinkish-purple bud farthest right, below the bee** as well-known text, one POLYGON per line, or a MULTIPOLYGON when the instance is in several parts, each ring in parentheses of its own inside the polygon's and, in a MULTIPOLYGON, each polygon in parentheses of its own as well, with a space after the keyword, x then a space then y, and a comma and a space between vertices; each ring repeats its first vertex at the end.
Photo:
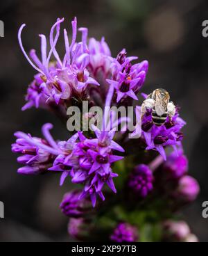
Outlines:
POLYGON ((199 191, 200 186, 196 179, 186 175, 179 179, 174 196, 183 202, 192 202, 196 199, 199 191))

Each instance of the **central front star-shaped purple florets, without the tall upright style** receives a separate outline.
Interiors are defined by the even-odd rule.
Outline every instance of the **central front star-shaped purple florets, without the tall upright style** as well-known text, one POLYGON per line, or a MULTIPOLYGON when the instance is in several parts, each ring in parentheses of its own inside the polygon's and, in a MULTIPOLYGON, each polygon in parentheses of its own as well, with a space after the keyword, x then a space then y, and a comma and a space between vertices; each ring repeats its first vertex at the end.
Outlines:
MULTIPOLYGON (((49 170, 62 171, 61 184, 64 179, 70 175, 71 182, 79 184, 85 183, 83 193, 80 195, 80 199, 90 196, 92 205, 96 205, 96 195, 99 195, 102 200, 105 200, 101 191, 103 185, 107 186, 116 193, 113 177, 117 177, 116 173, 112 173, 111 163, 119 161, 123 157, 114 156, 112 149, 107 147, 103 151, 103 148, 96 147, 94 142, 87 139, 81 132, 78 133, 79 142, 71 143, 73 150, 69 149, 69 154, 60 154, 55 159, 53 167, 49 170)), ((76 140, 76 136, 73 141, 76 140)))

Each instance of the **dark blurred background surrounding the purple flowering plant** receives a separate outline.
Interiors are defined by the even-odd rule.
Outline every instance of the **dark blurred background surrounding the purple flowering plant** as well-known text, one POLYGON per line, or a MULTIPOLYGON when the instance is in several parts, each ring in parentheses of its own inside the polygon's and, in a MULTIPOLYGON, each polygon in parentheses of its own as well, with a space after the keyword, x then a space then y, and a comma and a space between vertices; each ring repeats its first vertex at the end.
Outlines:
POLYGON ((192 232, 207 241, 208 219, 201 214, 202 202, 208 200, 208 38, 202 37, 207 0, 3 0, 0 14, 5 24, 5 37, 0 38, 0 201, 5 205, 0 241, 69 241, 67 218, 58 209, 69 187, 60 187, 57 175, 17 175, 17 155, 10 152, 10 144, 17 130, 40 136, 45 122, 55 124, 57 138, 67 138, 67 129, 51 113, 21 112, 35 70, 19 49, 17 31, 26 23, 26 49, 40 49, 39 33, 49 35, 57 17, 65 17, 64 26, 71 31, 74 16, 78 26, 89 28, 89 36, 105 35, 113 56, 125 47, 128 55, 147 59, 150 68, 144 91, 162 86, 180 104, 187 121, 184 149, 189 172, 201 187, 198 200, 183 214, 192 232))

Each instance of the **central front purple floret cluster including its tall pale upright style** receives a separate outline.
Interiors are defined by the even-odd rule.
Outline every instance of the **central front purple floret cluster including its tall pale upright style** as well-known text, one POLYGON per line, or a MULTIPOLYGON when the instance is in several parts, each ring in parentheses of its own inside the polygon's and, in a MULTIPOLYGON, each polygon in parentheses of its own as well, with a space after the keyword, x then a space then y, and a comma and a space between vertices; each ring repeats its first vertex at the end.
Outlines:
MULTIPOLYGON (((110 86, 105 106, 110 106, 113 93, 114 88, 110 86)), ((106 109, 103 120, 107 120, 106 109)), ((53 167, 49 168, 49 170, 62 172, 60 184, 63 184, 67 176, 71 176, 71 182, 73 183, 84 184, 85 187, 80 195, 80 200, 89 196, 93 207, 96 205, 97 195, 105 200, 101 191, 105 184, 116 193, 113 178, 118 175, 112 172, 111 167, 112 163, 123 159, 123 157, 114 155, 113 150, 120 152, 124 150, 112 140, 115 134, 115 129, 112 126, 119 122, 121 120, 116 120, 112 125, 103 122, 101 130, 92 126, 96 138, 89 139, 81 131, 78 131, 78 134, 70 138, 67 143, 58 143, 61 154, 56 157, 53 167), (112 129, 109 130, 107 127, 112 129)))

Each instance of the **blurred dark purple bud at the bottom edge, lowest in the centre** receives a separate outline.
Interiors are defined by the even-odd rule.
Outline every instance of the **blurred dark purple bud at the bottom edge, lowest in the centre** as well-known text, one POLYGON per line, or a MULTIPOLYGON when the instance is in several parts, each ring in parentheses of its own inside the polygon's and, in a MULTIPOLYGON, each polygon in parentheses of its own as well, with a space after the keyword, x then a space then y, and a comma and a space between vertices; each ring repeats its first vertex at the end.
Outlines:
POLYGON ((138 240, 137 227, 129 223, 119 223, 110 236, 110 240, 117 243, 136 242, 138 240))

